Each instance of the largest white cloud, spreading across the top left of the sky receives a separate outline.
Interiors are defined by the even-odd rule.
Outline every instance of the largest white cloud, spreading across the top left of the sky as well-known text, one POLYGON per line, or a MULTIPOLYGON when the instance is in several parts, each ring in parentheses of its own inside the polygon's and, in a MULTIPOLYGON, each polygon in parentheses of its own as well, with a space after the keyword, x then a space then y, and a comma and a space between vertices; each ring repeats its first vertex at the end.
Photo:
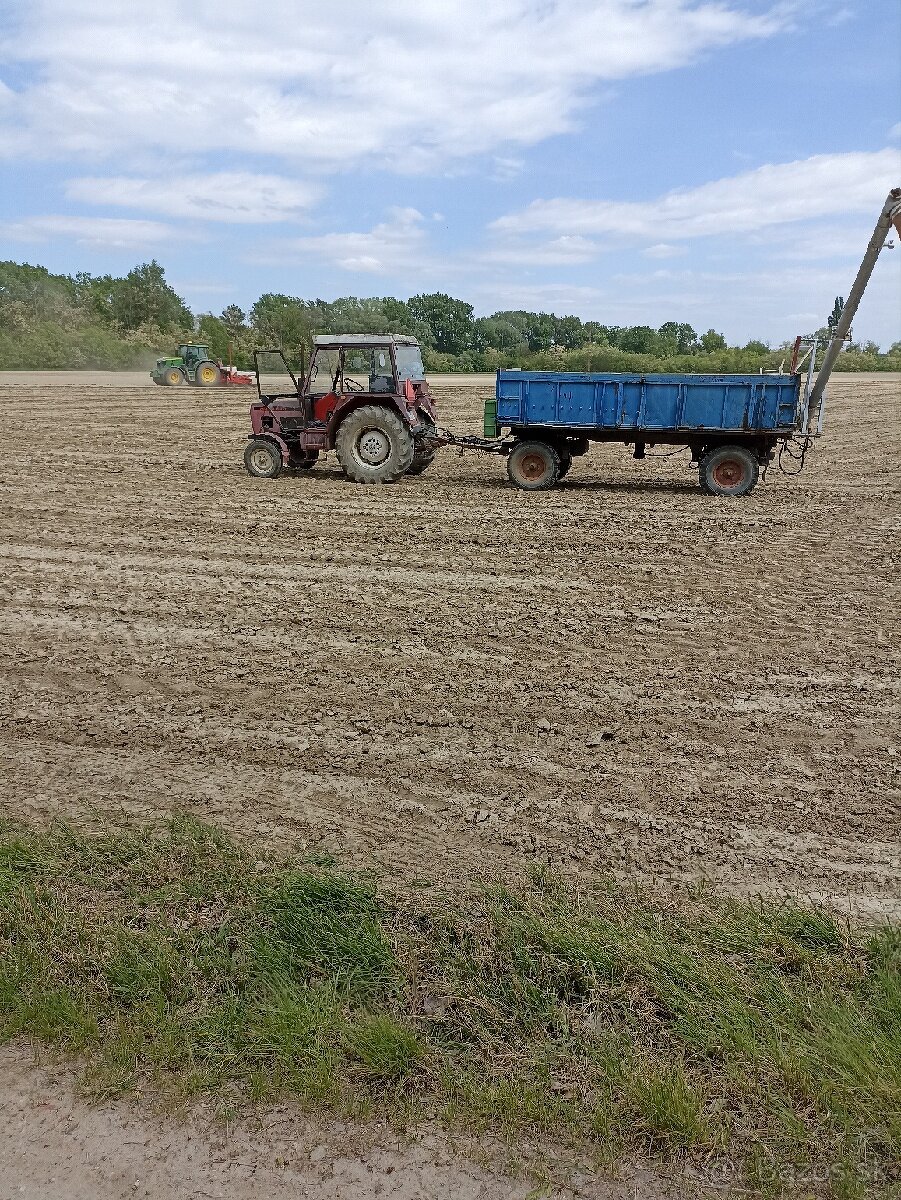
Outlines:
MULTIPOLYGON (((607 80, 770 37, 773 0, 31 0, 0 152, 191 169, 214 149, 419 170, 576 126, 607 80)), ((507 161, 503 166, 504 160, 507 161)))

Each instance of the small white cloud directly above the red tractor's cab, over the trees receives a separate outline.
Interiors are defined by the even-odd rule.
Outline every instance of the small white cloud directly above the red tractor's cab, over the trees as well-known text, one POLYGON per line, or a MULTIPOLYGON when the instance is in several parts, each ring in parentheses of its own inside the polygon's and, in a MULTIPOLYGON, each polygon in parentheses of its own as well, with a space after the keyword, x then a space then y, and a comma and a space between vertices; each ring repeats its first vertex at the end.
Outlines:
POLYGON ((286 239, 278 259, 314 258, 344 271, 394 275, 425 257, 425 217, 416 209, 391 209, 389 220, 367 233, 326 233, 286 239))

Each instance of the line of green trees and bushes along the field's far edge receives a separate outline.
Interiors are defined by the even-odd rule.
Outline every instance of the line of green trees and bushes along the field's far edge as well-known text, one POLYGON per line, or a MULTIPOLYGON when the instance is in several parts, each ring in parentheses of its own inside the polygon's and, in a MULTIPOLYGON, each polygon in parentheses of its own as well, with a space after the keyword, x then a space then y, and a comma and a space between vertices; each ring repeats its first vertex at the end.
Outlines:
MULTIPOLYGON (((819 330, 823 337, 836 310, 819 330)), ((269 347, 299 362, 317 334, 353 332, 410 334, 431 371, 757 371, 777 368, 787 355, 787 346, 729 346, 714 329, 699 334, 675 320, 653 329, 524 310, 476 317, 470 304, 440 292, 409 300, 266 293, 247 312, 233 304, 194 316, 155 260, 122 277, 0 263, 0 370, 138 368, 172 354, 180 341, 206 342, 214 356, 238 366, 269 347)), ((901 371, 901 342, 884 354, 872 342, 852 343, 842 367, 901 371)))

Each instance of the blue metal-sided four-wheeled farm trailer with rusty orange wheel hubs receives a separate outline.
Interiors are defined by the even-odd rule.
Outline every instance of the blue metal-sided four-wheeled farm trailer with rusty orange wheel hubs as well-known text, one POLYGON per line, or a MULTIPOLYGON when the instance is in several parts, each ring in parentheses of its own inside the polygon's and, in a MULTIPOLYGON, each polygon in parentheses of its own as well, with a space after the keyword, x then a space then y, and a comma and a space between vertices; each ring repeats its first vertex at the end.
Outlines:
MULTIPOLYGON (((553 487, 591 442, 623 442, 633 446, 636 458, 648 446, 687 446, 704 491, 745 496, 780 440, 807 434, 809 398, 810 388, 797 371, 498 371, 494 398, 485 406, 485 437, 506 455, 511 482, 529 491, 553 487)), ((821 406, 817 431, 822 416, 821 406)))

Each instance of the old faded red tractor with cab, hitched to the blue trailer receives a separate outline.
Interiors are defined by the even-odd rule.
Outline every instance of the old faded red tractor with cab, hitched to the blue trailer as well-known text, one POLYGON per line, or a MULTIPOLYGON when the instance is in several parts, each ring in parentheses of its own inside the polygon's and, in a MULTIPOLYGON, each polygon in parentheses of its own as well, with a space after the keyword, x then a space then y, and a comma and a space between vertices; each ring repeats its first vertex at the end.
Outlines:
POLYGON ((415 337, 316 337, 300 380, 281 350, 254 358, 259 401, 251 406, 253 433, 244 452, 251 475, 310 470, 320 454, 335 450, 348 479, 394 484, 421 474, 434 458, 437 416, 415 337))

